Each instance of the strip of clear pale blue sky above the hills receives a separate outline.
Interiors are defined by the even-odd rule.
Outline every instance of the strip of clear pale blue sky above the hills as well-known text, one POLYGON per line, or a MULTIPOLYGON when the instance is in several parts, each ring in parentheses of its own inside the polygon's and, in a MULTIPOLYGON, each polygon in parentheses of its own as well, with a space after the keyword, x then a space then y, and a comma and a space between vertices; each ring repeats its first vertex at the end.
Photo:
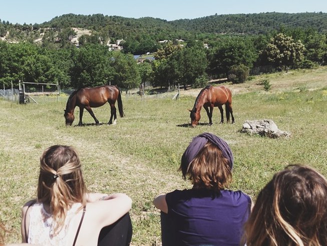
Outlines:
POLYGON ((129 18, 154 17, 172 21, 215 14, 265 12, 327 13, 327 0, 2 0, 0 3, 0 19, 13 24, 41 24, 69 13, 129 18))

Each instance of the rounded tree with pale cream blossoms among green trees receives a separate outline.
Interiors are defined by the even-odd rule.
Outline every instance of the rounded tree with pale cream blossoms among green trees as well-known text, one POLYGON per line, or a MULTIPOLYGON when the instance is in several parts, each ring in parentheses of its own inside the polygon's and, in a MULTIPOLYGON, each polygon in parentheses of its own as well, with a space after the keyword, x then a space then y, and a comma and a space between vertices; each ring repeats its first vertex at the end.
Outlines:
POLYGON ((295 42, 292 37, 285 36, 282 33, 271 38, 263 54, 267 60, 275 66, 294 67, 304 58, 305 48, 300 40, 295 42))

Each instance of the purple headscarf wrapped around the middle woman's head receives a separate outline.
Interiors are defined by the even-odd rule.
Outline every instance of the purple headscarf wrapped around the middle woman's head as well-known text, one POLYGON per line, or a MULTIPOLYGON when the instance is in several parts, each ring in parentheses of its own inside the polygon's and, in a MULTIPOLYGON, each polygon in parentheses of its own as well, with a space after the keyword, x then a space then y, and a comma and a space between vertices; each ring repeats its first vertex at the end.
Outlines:
POLYGON ((210 141, 212 144, 221 150, 222 155, 228 160, 228 166, 230 170, 233 168, 234 158, 231 149, 228 144, 221 138, 211 133, 203 133, 193 138, 192 142, 186 148, 182 156, 182 166, 188 167, 195 156, 200 152, 203 146, 210 141))

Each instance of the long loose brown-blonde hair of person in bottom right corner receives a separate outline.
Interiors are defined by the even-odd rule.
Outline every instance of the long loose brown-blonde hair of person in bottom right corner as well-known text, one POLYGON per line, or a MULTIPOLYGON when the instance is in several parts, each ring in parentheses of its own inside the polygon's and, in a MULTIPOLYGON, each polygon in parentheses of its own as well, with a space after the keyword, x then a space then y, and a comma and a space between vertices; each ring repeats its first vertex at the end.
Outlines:
POLYGON ((327 245, 327 180, 314 169, 291 165, 260 191, 245 224, 251 245, 327 245))

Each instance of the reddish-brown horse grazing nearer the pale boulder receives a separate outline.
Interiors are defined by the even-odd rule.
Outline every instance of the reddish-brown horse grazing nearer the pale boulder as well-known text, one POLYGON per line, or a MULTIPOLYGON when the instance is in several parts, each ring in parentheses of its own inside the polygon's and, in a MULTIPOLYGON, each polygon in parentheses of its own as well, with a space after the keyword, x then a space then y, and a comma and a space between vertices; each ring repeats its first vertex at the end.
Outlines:
POLYGON ((205 88, 203 88, 198 96, 196 97, 194 106, 192 110, 189 110, 191 112, 191 125, 192 127, 195 127, 198 125, 199 120, 201 118, 200 111, 202 106, 204 107, 205 111, 208 114, 209 117, 209 125, 212 125, 212 111, 213 107, 218 107, 221 114, 221 120, 220 123, 224 122, 224 109, 222 108, 222 105, 225 104, 226 108, 226 118, 227 122, 229 121, 229 113, 232 116, 232 123, 235 122, 234 116, 233 116, 233 109, 232 109, 232 93, 230 89, 228 89, 225 86, 212 86, 208 85, 205 88), (210 107, 210 111, 209 111, 210 107))

